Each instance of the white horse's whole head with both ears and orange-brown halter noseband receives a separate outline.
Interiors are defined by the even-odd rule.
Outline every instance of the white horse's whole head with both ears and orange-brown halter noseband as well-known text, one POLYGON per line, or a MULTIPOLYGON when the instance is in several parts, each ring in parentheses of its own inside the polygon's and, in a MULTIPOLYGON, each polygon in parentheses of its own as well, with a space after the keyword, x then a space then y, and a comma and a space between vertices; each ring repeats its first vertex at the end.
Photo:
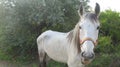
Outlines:
POLYGON ((95 11, 84 13, 83 7, 79 9, 79 40, 81 47, 82 63, 89 63, 95 56, 94 48, 98 41, 100 23, 98 21, 100 6, 96 3, 95 11))

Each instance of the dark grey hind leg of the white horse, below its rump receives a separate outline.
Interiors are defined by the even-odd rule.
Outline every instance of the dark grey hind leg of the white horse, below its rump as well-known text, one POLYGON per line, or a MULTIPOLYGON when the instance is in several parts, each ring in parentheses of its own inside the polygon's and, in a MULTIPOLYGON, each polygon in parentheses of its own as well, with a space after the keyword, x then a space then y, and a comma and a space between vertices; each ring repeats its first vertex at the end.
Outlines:
POLYGON ((46 67, 46 53, 44 51, 39 52, 39 60, 40 60, 39 67, 46 67))

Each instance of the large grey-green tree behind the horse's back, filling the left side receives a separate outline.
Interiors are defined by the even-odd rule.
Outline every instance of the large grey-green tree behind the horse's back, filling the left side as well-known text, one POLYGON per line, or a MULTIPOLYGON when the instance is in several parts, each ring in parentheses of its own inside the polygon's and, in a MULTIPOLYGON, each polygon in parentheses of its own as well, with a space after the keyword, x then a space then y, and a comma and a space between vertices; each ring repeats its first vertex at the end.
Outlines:
POLYGON ((2 5, 7 11, 6 21, 1 21, 6 23, 1 47, 23 60, 36 57, 36 39, 43 31, 68 31, 79 18, 79 0, 4 0, 2 5))

